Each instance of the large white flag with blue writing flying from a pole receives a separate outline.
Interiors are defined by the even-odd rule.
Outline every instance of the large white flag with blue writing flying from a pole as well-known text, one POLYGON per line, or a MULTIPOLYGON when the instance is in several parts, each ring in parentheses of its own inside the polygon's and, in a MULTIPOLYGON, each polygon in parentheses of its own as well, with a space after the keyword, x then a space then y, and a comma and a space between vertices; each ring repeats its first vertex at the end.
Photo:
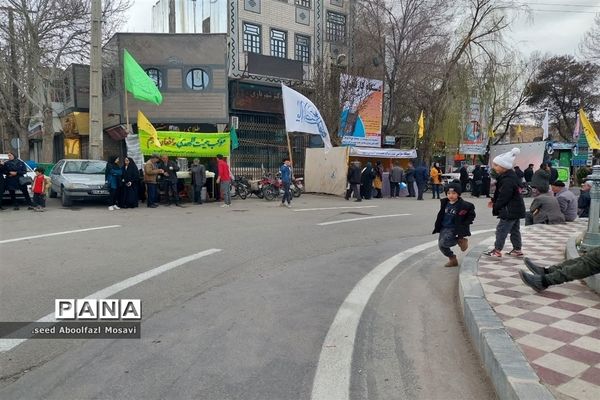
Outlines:
POLYGON ((283 113, 285 129, 288 132, 304 132, 319 135, 323 139, 325 149, 331 148, 329 131, 321 113, 315 105, 302 94, 281 84, 283 95, 283 113))

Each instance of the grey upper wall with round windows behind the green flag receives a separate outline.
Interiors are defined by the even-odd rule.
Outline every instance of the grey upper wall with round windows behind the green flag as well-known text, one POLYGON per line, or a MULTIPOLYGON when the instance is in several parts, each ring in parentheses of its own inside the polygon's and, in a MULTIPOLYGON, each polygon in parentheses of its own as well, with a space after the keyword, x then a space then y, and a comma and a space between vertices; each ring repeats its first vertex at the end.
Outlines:
POLYGON ((104 98, 105 128, 118 121, 125 122, 124 49, 142 68, 158 69, 163 82, 160 88, 163 103, 159 106, 138 101, 128 94, 130 123, 137 122, 138 110, 155 124, 228 122, 226 35, 119 33, 105 46, 105 60, 112 67, 105 75, 114 80, 115 89, 104 98), (208 74, 209 83, 204 90, 192 90, 186 84, 188 72, 195 68, 208 74), (109 114, 118 115, 110 117, 109 114))

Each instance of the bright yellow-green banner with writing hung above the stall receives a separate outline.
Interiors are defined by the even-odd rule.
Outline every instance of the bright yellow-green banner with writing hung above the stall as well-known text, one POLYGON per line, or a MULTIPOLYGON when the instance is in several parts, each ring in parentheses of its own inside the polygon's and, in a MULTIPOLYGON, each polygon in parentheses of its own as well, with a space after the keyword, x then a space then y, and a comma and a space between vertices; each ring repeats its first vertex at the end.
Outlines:
POLYGON ((196 133, 158 131, 161 147, 154 145, 150 135, 140 130, 140 147, 142 154, 166 154, 175 157, 215 157, 217 154, 229 156, 231 139, 226 133, 196 133))

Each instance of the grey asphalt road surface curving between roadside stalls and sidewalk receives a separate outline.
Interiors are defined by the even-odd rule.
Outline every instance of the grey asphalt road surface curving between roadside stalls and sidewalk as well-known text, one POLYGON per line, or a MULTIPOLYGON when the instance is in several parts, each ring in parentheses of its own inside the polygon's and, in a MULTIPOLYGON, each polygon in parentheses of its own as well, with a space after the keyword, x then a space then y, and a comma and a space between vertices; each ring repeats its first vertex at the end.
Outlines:
MULTIPOLYGON (((473 230, 493 228, 485 199, 474 200, 473 230)), ((139 340, 27 340, 0 352, 0 399, 310 399, 340 305, 376 266, 436 238, 439 203, 303 195, 291 210, 277 205, 111 212, 50 199, 44 213, 1 212, 0 321, 35 321, 57 298, 220 251, 112 296, 142 300, 139 340), (304 210, 314 208, 331 209, 304 210)), ((495 398, 445 261, 430 247, 377 286, 351 343, 347 398, 495 398)))

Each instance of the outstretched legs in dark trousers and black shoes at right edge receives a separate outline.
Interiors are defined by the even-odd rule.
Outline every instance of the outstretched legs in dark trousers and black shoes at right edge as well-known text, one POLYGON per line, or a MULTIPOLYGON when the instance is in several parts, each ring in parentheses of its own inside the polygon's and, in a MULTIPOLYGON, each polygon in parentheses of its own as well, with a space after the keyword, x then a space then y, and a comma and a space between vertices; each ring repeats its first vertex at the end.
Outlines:
POLYGON ((521 280, 536 292, 541 292, 549 286, 600 274, 600 247, 592 248, 581 257, 565 260, 547 268, 538 265, 527 257, 523 261, 533 274, 519 271, 521 280))

